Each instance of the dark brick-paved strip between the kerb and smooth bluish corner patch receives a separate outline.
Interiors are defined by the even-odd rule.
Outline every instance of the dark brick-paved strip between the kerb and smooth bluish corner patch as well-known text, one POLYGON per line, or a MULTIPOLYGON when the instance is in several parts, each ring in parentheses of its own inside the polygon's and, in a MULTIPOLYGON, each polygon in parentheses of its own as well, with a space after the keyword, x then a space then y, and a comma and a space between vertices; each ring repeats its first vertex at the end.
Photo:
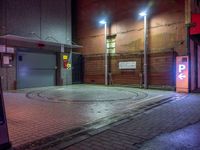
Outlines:
MULTIPOLYGON (((170 133, 199 122, 199 108, 200 95, 190 94, 184 99, 163 104, 133 117, 125 123, 110 127, 108 130, 71 145, 65 150, 148 150, 148 145, 143 147, 144 142, 163 133, 170 133)), ((192 148, 192 143, 187 144, 192 148)), ((153 149, 155 147, 154 145, 153 149)), ((149 149, 151 148, 149 147, 149 149)), ((170 149, 174 148, 170 147, 170 149)))

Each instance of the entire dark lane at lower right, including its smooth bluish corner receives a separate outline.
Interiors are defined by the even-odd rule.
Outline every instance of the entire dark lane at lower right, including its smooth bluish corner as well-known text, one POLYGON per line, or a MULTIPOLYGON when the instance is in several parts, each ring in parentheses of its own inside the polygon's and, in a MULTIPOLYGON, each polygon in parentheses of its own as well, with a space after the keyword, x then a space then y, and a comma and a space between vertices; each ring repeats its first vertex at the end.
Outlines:
POLYGON ((199 108, 200 95, 190 94, 183 99, 171 101, 133 116, 126 122, 89 136, 81 142, 66 147, 65 150, 196 150, 200 146, 200 125, 196 125, 196 130, 192 127, 182 129, 182 132, 176 130, 199 122, 199 108), (194 132, 197 133, 193 134, 194 132), (162 135, 164 133, 169 135, 162 135), (148 142, 158 135, 161 137, 148 142), (179 138, 178 144, 174 144, 175 138, 179 138))

